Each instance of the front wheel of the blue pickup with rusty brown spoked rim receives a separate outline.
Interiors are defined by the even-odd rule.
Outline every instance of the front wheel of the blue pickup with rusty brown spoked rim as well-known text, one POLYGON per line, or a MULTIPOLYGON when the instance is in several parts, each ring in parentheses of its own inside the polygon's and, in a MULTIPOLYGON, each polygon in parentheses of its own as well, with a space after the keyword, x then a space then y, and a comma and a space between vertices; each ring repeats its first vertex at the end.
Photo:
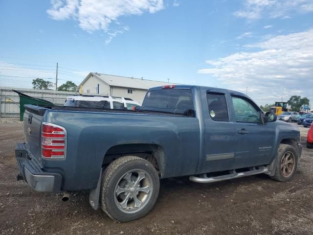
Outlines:
POLYGON ((278 148, 275 175, 271 178, 280 182, 290 181, 297 170, 298 157, 294 147, 281 143, 278 148))

